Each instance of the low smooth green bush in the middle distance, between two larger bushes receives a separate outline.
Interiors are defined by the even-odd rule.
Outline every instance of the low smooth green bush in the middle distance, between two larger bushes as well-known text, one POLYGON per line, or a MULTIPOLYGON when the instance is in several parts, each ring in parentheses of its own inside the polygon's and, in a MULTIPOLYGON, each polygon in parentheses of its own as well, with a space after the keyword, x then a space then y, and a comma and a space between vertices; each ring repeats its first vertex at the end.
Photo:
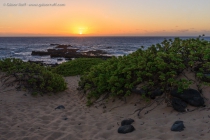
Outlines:
POLYGON ((62 63, 61 65, 55 67, 53 72, 63 76, 81 75, 85 71, 89 71, 93 65, 97 65, 102 62, 104 62, 104 60, 100 58, 78 58, 62 63))

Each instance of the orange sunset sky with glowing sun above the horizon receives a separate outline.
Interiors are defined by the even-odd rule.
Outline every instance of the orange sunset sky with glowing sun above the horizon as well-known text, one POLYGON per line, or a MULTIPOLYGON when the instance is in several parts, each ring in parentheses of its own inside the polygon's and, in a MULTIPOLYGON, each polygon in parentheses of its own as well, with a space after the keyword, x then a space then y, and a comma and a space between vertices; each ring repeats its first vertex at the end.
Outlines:
POLYGON ((210 0, 0 0, 0 36, 201 34, 210 36, 210 0))

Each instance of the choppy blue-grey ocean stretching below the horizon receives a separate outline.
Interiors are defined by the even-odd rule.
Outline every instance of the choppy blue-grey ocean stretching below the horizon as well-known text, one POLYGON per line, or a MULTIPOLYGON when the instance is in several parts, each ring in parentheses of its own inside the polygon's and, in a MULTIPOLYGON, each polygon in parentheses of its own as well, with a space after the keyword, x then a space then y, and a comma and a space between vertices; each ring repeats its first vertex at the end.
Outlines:
MULTIPOLYGON (((180 37, 187 39, 189 37, 180 37)), ((161 43, 174 37, 0 37, 0 59, 20 58, 23 61, 43 61, 46 64, 63 63, 64 58, 32 56, 32 51, 46 51, 55 46, 50 44, 71 45, 79 51, 103 50, 110 56, 127 55, 139 49, 161 43)), ((210 41, 210 37, 204 37, 210 41)))

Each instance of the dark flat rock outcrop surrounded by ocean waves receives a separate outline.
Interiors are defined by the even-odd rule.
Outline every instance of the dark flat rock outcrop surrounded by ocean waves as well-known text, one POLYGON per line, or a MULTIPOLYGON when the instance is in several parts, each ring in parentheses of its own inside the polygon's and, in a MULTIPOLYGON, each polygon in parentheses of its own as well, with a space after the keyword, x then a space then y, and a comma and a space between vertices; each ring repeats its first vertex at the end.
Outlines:
POLYGON ((31 55, 39 55, 39 56, 50 55, 50 57, 64 57, 64 58, 81 58, 81 57, 110 58, 111 57, 111 56, 105 56, 104 54, 106 54, 106 52, 102 50, 79 52, 79 49, 75 49, 71 45, 58 45, 54 49, 47 49, 47 51, 32 51, 31 53, 31 55))

